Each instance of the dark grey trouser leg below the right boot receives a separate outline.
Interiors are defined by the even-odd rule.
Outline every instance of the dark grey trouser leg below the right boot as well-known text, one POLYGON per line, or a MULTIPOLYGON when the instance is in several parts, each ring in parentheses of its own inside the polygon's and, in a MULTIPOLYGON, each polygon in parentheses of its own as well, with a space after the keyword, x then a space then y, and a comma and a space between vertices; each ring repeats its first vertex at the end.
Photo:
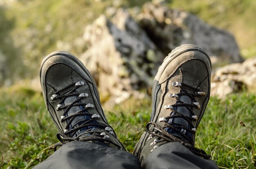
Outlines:
POLYGON ((146 158, 143 169, 218 169, 215 161, 193 154, 181 143, 159 146, 146 158))

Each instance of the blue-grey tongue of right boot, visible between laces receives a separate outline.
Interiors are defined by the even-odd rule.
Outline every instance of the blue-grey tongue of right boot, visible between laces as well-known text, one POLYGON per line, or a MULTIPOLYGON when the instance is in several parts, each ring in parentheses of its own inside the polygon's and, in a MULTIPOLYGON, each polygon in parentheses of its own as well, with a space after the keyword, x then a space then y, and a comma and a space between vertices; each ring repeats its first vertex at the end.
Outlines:
MULTIPOLYGON (((192 103, 192 99, 188 96, 181 96, 179 99, 180 99, 180 101, 183 101, 186 104, 191 104, 192 103)), ((177 102, 176 104, 178 104, 178 103, 181 103, 181 102, 177 102)), ((177 112, 180 112, 184 116, 190 117, 190 112, 185 106, 178 106, 178 107, 175 108, 175 110, 177 112)), ((172 112, 171 115, 175 115, 175 112, 172 112)), ((191 126, 189 125, 189 123, 185 119, 183 119, 183 118, 172 118, 172 119, 169 119, 167 123, 169 123, 171 125, 179 126, 177 129, 180 130, 180 132, 182 132, 184 135, 188 136, 190 138, 189 141, 192 143, 193 138, 192 138, 191 132, 184 129, 184 127, 191 128, 191 126)), ((169 132, 173 135, 178 135, 178 136, 182 137, 182 135, 180 133, 177 133, 175 130, 171 129, 170 127, 166 127, 164 129, 167 132, 169 132)))

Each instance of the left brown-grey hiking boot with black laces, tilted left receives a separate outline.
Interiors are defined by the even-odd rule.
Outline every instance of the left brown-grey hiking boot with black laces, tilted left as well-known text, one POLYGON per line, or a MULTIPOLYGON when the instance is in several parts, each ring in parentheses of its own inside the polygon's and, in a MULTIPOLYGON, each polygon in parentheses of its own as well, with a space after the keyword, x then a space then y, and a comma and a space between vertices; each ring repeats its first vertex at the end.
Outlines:
POLYGON ((125 150, 106 120, 92 75, 79 59, 65 51, 49 54, 41 64, 40 81, 62 144, 90 141, 125 150))

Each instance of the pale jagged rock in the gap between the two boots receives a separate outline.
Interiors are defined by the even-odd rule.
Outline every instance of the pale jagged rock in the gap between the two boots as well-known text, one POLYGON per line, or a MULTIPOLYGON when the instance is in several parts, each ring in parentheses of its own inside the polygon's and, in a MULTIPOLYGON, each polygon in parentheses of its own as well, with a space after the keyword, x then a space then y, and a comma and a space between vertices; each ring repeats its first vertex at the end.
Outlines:
POLYGON ((164 57, 124 10, 118 10, 112 21, 101 15, 85 28, 83 37, 88 50, 79 59, 97 81, 103 100, 120 103, 139 97, 136 90, 152 88, 164 57))

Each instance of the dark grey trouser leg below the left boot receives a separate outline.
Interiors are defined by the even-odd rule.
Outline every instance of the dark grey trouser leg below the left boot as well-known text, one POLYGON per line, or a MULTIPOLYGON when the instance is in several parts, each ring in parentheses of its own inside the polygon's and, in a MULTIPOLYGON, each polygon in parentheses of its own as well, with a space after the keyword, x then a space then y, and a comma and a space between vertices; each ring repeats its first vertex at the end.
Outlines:
POLYGON ((72 141, 34 169, 141 169, 136 156, 96 143, 72 141))

